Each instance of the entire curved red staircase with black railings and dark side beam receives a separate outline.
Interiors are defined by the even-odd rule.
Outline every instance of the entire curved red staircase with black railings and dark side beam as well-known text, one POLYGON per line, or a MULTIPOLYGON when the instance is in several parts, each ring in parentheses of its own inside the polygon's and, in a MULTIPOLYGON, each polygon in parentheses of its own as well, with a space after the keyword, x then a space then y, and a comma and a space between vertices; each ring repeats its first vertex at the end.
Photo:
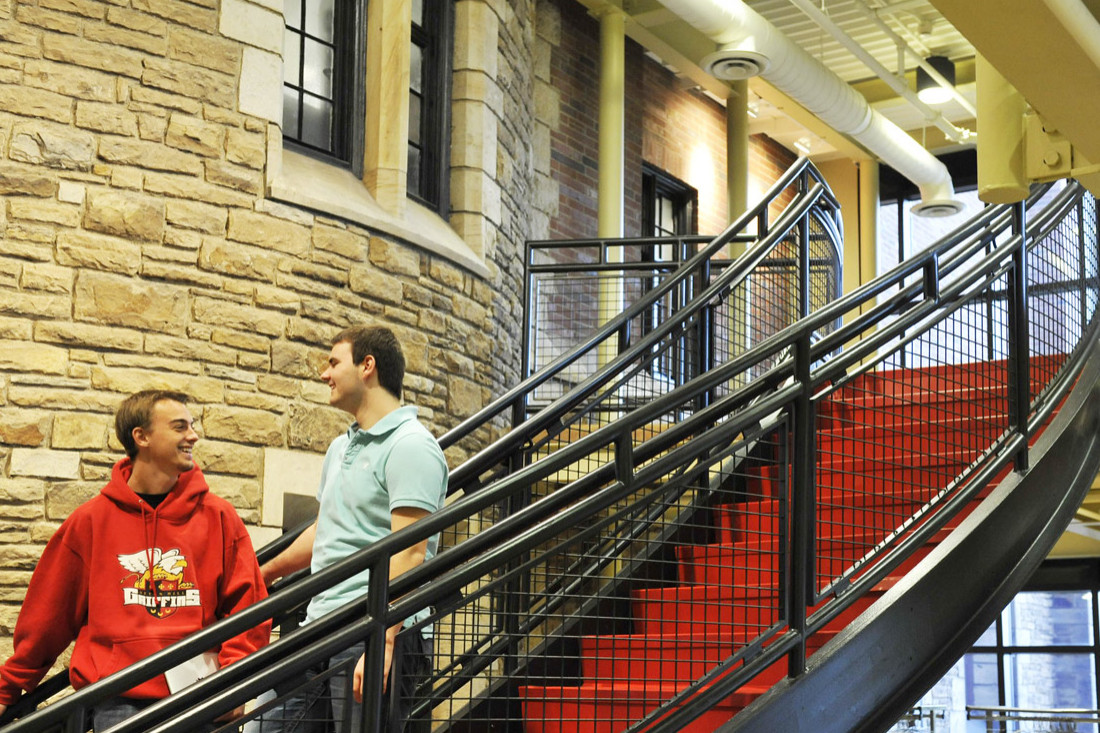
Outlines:
POLYGON ((838 297, 836 205, 815 176, 792 168, 619 316, 535 359, 546 369, 443 436, 476 452, 452 471, 441 512, 10 730, 80 730, 97 700, 293 613, 339 578, 384 578, 395 553, 437 532, 444 549, 388 589, 119 733, 194 730, 362 639, 377 710, 383 630, 427 606, 435 676, 417 714, 435 733, 889 727, 1045 556, 1100 463, 1100 408, 1087 402, 1100 402, 1096 206, 1067 189, 1028 211, 1026 232, 1024 217, 990 207, 838 297), (796 193, 769 223, 784 190, 796 193), (723 261, 750 225, 746 254, 723 261), (680 309, 648 321, 672 293, 680 309), (784 320, 738 331, 761 304, 784 320), (483 440, 509 411, 512 429, 483 440), (1030 472, 1010 473, 1028 459, 1030 472), (990 491, 997 501, 981 502, 990 491), (966 592, 945 604, 944 588, 966 592), (902 606, 921 613, 891 615, 902 606))

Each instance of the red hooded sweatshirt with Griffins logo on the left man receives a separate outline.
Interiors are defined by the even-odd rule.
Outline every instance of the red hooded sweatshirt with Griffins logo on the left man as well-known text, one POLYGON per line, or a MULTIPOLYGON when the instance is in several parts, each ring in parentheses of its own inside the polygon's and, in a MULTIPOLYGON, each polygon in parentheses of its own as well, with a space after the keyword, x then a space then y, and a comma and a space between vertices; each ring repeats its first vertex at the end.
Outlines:
MULTIPOLYGON (((69 679, 79 689, 266 597, 244 524, 197 467, 155 510, 127 485, 131 470, 128 458, 116 463, 110 483, 46 545, 0 668, 0 704, 33 690, 74 638, 69 679)), ((270 634, 265 623, 229 639, 219 666, 270 634)), ((157 675, 125 697, 167 694, 157 675)))

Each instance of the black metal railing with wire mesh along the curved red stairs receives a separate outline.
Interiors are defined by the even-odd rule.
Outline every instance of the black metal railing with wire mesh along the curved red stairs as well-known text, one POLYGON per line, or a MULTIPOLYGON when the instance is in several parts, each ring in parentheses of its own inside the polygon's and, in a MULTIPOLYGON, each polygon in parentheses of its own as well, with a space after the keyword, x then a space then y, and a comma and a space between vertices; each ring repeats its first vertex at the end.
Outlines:
MULTIPOLYGON (((641 354, 658 359, 684 324, 736 292, 820 200, 821 186, 795 196, 672 321, 620 337, 651 305, 641 298, 556 358, 560 369, 615 343, 606 363, 494 444, 498 452, 457 469, 452 488, 464 495, 442 511, 11 730, 79 725, 96 700, 340 579, 363 569, 384 579, 394 553, 436 533, 444 549, 420 568, 388 588, 372 583, 361 601, 118 731, 194 730, 361 641, 373 720, 382 633, 428 606, 436 674, 419 709, 439 730, 713 730, 801 674, 832 624, 1026 463, 1028 440, 1096 338, 1100 293, 1096 203, 1072 187, 1033 217, 1023 206, 988 209, 651 398, 605 396, 645 372, 641 354), (989 357, 976 357, 989 333, 989 357), (899 369, 903 351, 921 362, 899 369)), ((666 277, 650 295, 675 286, 666 277)), ((542 372, 526 380, 480 426, 525 411, 548 382, 542 372)), ((482 429, 472 425, 463 435, 482 429)))

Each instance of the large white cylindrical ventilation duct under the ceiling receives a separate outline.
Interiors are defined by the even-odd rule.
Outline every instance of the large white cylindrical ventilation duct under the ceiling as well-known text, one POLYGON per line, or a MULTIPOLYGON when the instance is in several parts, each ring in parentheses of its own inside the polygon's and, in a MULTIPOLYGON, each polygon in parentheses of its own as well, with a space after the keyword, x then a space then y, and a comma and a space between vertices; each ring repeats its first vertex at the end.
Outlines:
POLYGON ((661 2, 718 44, 702 61, 707 73, 721 79, 762 76, 831 128, 861 143, 917 185, 921 203, 913 207, 914 214, 943 217, 963 210, 947 166, 741 0, 661 2))

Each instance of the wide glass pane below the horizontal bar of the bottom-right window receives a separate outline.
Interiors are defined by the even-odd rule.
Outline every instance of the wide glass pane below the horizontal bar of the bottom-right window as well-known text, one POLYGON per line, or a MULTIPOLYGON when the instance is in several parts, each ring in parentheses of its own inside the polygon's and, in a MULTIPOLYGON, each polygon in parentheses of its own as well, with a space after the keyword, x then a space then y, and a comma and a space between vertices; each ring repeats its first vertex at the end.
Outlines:
POLYGON ((1004 667, 1005 704, 1010 708, 1096 710, 1091 654, 1010 654, 1004 667))

